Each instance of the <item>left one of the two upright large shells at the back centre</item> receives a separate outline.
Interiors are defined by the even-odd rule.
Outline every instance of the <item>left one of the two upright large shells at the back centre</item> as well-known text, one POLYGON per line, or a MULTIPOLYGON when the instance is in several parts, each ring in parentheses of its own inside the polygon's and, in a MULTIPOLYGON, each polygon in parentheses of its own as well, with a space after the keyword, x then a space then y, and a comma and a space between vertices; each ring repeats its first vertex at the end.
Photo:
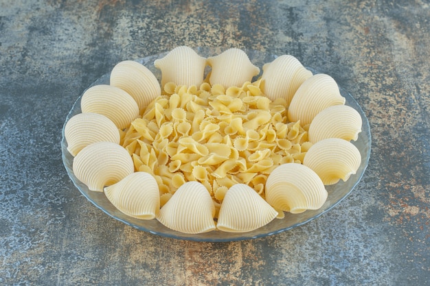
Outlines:
POLYGON ((205 73, 206 59, 190 47, 176 47, 164 58, 155 60, 161 70, 161 86, 174 82, 177 86, 200 86, 205 73))

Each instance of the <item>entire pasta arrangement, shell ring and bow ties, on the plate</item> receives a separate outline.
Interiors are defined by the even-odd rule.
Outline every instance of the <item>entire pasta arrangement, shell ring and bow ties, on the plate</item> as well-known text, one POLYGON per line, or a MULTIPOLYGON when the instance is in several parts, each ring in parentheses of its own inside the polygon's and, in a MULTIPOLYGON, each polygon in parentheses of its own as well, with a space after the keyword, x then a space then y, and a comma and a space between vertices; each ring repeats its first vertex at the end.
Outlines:
POLYGON ((149 69, 123 61, 65 126, 73 173, 120 211, 182 233, 247 232, 326 202, 361 163, 359 113, 335 80, 293 56, 177 47, 149 69), (205 75, 205 69, 210 72, 205 75))

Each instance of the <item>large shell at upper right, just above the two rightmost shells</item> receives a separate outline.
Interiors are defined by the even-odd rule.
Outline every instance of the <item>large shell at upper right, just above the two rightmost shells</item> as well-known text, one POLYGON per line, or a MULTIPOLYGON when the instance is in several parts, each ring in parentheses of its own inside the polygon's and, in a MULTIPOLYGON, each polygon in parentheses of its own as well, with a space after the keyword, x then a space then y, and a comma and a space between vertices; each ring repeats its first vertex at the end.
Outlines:
POLYGON ((288 119, 302 126, 312 122, 321 110, 345 104, 339 86, 330 75, 319 73, 308 78, 295 92, 288 108, 288 119))

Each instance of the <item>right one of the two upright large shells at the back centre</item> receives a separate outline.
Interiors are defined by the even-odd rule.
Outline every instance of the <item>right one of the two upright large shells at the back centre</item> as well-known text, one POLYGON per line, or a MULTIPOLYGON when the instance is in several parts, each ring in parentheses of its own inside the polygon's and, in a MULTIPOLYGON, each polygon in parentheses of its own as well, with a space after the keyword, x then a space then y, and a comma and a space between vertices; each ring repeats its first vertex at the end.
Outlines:
POLYGON ((212 67, 210 84, 220 84, 225 88, 242 86, 245 82, 251 82, 253 76, 260 73, 260 69, 252 64, 247 53, 236 48, 207 58, 207 63, 212 67))

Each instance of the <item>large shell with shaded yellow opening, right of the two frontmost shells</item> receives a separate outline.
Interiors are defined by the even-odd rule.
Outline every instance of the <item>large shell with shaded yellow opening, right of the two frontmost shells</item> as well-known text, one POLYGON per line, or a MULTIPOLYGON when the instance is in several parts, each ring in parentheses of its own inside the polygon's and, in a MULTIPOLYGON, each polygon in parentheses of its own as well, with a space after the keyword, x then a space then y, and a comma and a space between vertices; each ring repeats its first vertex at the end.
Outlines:
POLYGON ((266 182, 266 201, 273 208, 290 213, 321 208, 327 195, 315 171, 298 163, 276 167, 266 182))

